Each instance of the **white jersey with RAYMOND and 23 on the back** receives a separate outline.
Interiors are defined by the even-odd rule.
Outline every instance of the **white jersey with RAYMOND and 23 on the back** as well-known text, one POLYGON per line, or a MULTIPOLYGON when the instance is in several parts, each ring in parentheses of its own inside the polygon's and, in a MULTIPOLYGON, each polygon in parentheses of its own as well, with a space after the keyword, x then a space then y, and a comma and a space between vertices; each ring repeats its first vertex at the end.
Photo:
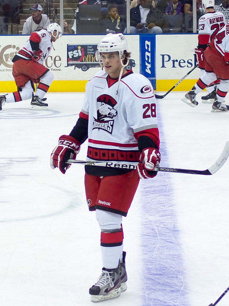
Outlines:
POLYGON ((199 19, 198 43, 209 44, 217 32, 223 28, 225 17, 221 12, 209 12, 199 19))

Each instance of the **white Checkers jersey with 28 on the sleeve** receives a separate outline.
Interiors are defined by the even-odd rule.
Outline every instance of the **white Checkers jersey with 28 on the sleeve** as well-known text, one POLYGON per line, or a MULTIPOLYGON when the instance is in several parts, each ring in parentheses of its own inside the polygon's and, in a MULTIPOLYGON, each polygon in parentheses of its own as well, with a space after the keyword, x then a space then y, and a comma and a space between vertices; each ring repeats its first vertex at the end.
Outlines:
POLYGON ((137 163, 134 134, 150 130, 158 136, 153 87, 145 76, 131 71, 120 80, 117 95, 118 82, 109 87, 107 78, 100 71, 86 85, 81 112, 88 116, 87 160, 137 163))

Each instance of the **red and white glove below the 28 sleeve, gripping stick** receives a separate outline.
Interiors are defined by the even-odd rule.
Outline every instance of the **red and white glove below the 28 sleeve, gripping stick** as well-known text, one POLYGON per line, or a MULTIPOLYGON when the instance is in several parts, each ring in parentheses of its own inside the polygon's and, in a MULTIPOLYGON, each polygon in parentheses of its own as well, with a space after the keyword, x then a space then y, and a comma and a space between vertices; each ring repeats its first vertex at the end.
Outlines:
POLYGON ((161 161, 161 154, 155 148, 146 148, 142 150, 137 166, 140 178, 151 178, 157 175, 157 171, 153 168, 159 166, 161 161))

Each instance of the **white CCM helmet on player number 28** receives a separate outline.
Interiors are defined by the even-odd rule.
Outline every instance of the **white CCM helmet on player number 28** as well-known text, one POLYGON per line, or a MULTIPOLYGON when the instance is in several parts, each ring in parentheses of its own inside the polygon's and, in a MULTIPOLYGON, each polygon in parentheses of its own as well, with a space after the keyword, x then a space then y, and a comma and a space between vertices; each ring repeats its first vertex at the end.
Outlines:
POLYGON ((105 35, 97 46, 98 53, 118 52, 120 59, 124 51, 128 52, 128 45, 125 36, 121 33, 105 35))

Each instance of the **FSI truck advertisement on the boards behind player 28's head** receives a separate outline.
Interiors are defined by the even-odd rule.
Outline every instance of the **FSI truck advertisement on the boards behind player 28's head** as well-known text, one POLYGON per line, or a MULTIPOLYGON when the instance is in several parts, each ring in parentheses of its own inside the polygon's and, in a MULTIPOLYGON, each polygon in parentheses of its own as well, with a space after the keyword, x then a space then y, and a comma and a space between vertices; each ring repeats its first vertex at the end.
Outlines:
MULTIPOLYGON (((97 50, 97 44, 90 45, 73 45, 67 44, 67 67, 74 66, 76 69, 81 68, 83 71, 87 71, 91 67, 100 67, 99 62, 95 59, 95 51, 97 50)), ((135 67, 135 61, 129 59, 129 64, 126 66, 127 70, 135 67)))

